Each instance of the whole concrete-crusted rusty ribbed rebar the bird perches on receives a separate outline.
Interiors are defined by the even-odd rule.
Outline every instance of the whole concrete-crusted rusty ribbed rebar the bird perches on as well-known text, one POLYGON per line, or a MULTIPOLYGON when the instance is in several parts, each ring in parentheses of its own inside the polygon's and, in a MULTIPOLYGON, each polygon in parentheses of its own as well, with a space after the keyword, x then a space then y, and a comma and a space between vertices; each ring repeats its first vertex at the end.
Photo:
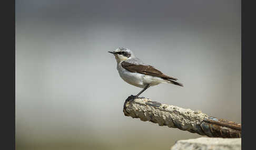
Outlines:
POLYGON ((125 116, 140 118, 141 121, 150 121, 160 126, 166 125, 209 137, 241 137, 240 123, 208 116, 200 110, 192 111, 150 99, 137 98, 125 101, 123 112, 125 116))

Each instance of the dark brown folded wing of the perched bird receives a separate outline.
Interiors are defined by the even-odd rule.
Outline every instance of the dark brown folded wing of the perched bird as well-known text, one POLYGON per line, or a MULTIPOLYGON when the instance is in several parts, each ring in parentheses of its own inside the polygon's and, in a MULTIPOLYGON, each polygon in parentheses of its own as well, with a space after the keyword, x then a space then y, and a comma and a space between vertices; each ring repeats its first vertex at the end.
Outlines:
POLYGON ((129 63, 129 62, 125 62, 125 61, 123 61, 121 63, 121 65, 124 69, 126 69, 130 72, 142 73, 142 74, 146 74, 146 75, 150 75, 150 76, 160 77, 163 79, 178 80, 176 78, 166 76, 161 71, 155 69, 154 67, 152 67, 150 65, 137 65, 137 64, 129 63))

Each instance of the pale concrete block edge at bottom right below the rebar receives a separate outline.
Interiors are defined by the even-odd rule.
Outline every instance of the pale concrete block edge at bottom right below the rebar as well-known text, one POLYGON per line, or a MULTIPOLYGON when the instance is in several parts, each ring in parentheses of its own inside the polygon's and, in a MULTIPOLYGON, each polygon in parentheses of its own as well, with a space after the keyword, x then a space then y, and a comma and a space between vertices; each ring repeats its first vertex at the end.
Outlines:
POLYGON ((200 137, 179 140, 171 150, 241 150, 241 138, 200 137))

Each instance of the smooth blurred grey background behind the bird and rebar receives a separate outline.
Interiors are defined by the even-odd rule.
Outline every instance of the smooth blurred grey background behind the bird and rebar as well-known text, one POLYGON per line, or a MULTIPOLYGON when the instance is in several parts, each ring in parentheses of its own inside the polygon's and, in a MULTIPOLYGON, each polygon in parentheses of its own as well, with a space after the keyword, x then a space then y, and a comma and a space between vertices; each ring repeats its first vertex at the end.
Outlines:
POLYGON ((241 1, 16 0, 16 149, 169 149, 201 137, 124 116, 117 47, 179 79, 141 96, 241 122, 241 1))

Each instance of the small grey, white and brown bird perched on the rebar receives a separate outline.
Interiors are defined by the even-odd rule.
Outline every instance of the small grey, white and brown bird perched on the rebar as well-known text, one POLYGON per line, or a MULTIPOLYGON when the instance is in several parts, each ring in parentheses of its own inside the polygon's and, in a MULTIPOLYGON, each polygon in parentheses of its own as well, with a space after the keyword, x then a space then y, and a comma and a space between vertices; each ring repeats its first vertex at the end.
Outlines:
POLYGON ((135 87, 143 88, 138 94, 131 95, 126 101, 138 98, 146 89, 160 83, 171 83, 183 87, 182 83, 176 82, 176 78, 170 77, 157 70, 155 67, 147 65, 134 53, 124 47, 119 47, 114 51, 108 51, 115 56, 117 62, 117 71, 119 76, 127 83, 135 87))

